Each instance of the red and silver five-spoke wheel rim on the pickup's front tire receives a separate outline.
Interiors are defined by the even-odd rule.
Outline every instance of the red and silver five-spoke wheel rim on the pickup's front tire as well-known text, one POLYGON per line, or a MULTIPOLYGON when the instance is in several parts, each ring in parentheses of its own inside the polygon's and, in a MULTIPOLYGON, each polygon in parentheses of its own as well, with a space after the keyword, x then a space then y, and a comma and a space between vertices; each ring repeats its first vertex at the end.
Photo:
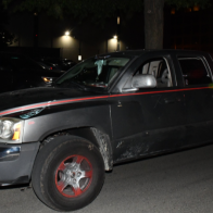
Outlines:
POLYGON ((58 191, 67 198, 83 195, 91 185, 92 166, 89 160, 82 155, 71 155, 63 160, 55 172, 58 191))

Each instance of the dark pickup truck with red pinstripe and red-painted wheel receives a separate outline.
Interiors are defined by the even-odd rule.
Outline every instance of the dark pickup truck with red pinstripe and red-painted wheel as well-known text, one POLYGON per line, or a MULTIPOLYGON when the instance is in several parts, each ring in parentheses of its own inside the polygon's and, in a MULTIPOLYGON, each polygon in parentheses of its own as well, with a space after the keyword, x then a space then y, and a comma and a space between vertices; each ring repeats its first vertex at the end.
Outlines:
POLYGON ((1 186, 32 180, 48 206, 77 210, 114 164, 211 143, 212 72, 204 52, 122 51, 0 95, 1 186))

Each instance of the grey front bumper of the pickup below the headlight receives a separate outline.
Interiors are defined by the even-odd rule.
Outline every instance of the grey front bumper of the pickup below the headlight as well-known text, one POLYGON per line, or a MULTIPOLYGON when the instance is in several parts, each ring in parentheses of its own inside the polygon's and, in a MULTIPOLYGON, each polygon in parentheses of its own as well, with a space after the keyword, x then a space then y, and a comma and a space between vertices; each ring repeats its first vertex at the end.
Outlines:
POLYGON ((0 186, 27 184, 39 142, 0 145, 0 186))

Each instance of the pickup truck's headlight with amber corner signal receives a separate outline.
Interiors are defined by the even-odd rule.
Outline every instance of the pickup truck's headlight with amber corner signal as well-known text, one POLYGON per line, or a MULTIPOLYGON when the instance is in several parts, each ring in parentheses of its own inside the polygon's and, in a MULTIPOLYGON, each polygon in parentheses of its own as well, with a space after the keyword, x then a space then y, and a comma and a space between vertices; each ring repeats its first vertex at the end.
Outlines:
POLYGON ((13 117, 0 118, 0 141, 21 142, 23 131, 23 121, 13 117))

